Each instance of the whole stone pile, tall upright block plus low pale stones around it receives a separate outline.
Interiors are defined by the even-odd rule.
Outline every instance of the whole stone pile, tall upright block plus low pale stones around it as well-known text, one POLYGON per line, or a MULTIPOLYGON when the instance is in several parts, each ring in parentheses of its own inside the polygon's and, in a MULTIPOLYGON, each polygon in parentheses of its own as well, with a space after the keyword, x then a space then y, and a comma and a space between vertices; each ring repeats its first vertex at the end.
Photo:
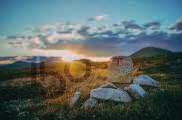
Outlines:
MULTIPOLYGON (((85 101, 83 106, 94 106, 98 100, 131 102, 133 99, 139 99, 146 95, 147 91, 143 86, 159 86, 159 82, 148 75, 139 75, 133 78, 133 66, 133 61, 130 57, 112 57, 108 65, 108 83, 91 90, 90 98, 85 101), (122 84, 124 87, 117 87, 116 84, 122 84)), ((70 106, 73 106, 78 100, 78 92, 76 92, 70 102, 70 106)))

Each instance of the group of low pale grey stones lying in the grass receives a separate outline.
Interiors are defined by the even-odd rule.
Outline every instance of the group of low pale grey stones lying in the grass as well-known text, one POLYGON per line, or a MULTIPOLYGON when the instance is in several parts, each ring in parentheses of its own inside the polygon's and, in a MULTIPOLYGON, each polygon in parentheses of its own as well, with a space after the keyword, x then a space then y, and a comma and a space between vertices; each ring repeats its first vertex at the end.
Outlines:
MULTIPOLYGON (((131 102, 133 99, 137 100, 146 95, 147 91, 143 88, 144 86, 158 87, 159 82, 148 75, 139 75, 130 84, 122 88, 108 82, 91 90, 90 97, 83 103, 83 107, 94 106, 98 103, 98 100, 123 103, 131 102)), ((70 106, 73 106, 79 100, 80 93, 79 95, 78 93, 76 92, 73 96, 70 106)))

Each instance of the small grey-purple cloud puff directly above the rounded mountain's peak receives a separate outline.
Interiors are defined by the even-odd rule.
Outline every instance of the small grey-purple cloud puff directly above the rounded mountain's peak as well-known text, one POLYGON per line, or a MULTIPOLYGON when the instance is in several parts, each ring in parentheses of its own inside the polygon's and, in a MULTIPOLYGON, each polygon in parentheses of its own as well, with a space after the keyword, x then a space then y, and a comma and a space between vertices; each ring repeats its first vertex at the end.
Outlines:
POLYGON ((146 23, 144 25, 145 28, 152 29, 152 30, 158 30, 160 29, 161 23, 159 21, 153 21, 146 23))

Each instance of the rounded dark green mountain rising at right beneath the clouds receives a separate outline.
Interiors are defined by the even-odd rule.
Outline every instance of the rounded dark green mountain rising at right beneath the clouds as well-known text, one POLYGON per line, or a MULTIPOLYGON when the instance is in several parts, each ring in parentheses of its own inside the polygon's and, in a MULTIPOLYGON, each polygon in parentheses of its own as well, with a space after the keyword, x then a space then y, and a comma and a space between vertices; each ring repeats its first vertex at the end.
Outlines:
POLYGON ((156 47, 146 47, 142 48, 139 51, 133 53, 131 55, 132 58, 142 58, 142 57, 155 57, 160 55, 169 55, 173 52, 162 49, 162 48, 156 48, 156 47))

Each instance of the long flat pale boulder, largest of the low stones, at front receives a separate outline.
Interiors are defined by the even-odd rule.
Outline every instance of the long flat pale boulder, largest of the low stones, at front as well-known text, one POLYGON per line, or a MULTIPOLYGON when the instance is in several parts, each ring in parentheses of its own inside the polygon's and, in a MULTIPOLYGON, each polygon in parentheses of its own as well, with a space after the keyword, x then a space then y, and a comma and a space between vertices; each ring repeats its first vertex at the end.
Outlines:
POLYGON ((111 100, 115 102, 130 102, 131 97, 122 89, 113 88, 97 88, 93 89, 90 93, 91 98, 100 100, 111 100))

